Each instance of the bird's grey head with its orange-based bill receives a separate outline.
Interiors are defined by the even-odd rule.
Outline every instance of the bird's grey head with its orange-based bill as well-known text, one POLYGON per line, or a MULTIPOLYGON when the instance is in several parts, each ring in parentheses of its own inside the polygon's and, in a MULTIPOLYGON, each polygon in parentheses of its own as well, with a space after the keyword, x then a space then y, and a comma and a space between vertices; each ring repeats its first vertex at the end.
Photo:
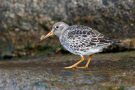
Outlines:
POLYGON ((57 22, 53 25, 52 30, 47 35, 42 35, 40 37, 40 40, 46 39, 53 35, 60 37, 61 34, 63 33, 63 31, 66 30, 67 27, 68 27, 68 25, 66 23, 57 22))

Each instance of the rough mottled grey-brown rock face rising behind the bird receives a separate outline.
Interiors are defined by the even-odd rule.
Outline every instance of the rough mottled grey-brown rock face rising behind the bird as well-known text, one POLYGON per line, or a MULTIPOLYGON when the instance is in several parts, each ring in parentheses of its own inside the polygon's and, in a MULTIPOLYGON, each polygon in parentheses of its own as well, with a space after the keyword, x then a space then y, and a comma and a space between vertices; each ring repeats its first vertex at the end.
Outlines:
POLYGON ((0 0, 0 13, 1 54, 34 47, 57 21, 87 25, 115 39, 135 37, 134 0, 0 0))

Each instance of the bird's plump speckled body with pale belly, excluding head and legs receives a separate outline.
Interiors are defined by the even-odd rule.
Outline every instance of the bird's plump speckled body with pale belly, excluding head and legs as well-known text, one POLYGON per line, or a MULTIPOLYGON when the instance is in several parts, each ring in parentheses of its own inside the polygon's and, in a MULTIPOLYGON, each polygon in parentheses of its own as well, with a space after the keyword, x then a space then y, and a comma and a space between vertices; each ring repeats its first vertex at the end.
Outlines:
POLYGON ((103 34, 83 25, 69 26, 61 35, 60 42, 64 48, 77 55, 100 52, 111 43, 103 34))

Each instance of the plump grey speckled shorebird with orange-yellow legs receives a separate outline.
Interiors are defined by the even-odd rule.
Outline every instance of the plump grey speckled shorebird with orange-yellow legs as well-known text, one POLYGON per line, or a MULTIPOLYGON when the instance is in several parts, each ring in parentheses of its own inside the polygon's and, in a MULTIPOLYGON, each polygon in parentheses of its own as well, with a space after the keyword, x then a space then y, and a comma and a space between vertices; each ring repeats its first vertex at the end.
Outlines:
POLYGON ((47 35, 41 35, 40 40, 42 41, 53 35, 59 38, 61 45, 66 50, 81 57, 75 64, 64 67, 65 69, 88 68, 93 55, 102 52, 112 43, 110 39, 95 29, 85 25, 70 26, 65 22, 56 22, 47 35), (85 61, 86 56, 88 56, 86 64, 79 66, 85 61))

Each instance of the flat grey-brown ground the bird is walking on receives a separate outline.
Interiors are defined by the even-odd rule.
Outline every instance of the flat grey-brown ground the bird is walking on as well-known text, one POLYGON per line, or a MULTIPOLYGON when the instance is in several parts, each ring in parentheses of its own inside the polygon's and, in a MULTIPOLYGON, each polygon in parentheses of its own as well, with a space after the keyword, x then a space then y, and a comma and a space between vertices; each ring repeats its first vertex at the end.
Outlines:
POLYGON ((135 90, 135 51, 97 54, 88 69, 63 68, 77 58, 0 61, 0 90, 135 90))

